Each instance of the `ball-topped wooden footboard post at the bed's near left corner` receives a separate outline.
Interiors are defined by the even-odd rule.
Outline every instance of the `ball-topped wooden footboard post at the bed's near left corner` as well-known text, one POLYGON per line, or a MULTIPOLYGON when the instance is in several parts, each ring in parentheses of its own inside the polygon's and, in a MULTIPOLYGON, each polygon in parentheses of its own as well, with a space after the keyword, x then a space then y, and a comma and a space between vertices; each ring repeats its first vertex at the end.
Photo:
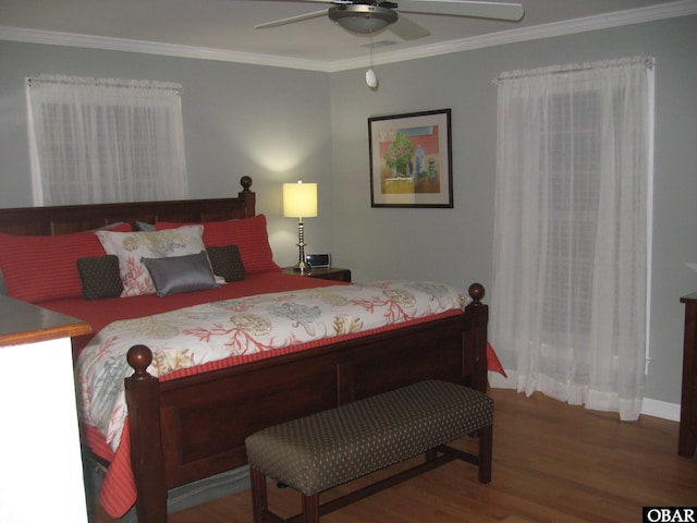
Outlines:
POLYGON ((134 345, 129 350, 127 361, 135 369, 125 379, 125 393, 138 523, 166 523, 167 487, 163 483, 159 381, 147 372, 152 353, 145 345, 134 345))

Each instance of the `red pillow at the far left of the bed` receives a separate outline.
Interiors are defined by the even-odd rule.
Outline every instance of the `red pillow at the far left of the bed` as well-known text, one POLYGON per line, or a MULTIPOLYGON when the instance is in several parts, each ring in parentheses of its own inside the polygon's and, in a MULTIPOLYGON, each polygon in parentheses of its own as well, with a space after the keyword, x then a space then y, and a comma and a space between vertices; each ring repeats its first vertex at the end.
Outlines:
MULTIPOLYGON (((109 230, 126 232, 131 224, 109 230)), ((77 258, 105 255, 95 231, 51 236, 0 233, 0 270, 8 295, 29 303, 82 296, 77 258)))

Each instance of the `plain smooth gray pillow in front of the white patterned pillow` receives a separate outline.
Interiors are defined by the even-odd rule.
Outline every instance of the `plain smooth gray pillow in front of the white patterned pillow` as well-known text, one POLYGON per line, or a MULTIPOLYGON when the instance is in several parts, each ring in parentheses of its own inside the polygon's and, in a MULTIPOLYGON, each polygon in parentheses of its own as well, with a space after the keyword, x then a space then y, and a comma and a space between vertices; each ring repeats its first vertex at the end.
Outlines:
POLYGON ((148 269, 158 296, 220 287, 206 251, 168 258, 140 258, 140 263, 148 269))

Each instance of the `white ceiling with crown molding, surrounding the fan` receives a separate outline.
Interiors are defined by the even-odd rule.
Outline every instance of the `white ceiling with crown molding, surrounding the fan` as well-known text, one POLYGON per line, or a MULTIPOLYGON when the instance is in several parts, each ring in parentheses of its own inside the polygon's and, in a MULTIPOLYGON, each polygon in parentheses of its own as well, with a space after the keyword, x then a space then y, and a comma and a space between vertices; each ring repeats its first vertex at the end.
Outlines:
MULTIPOLYGON (((399 0, 395 0, 399 3, 399 0)), ((510 0, 515 1, 515 0, 510 0)), ((697 14, 697 0, 521 0, 521 22, 409 14, 431 35, 372 36, 386 63, 530 38, 697 14), (378 44, 393 42, 386 46, 378 44)), ((364 66, 370 42, 327 16, 260 23, 325 9, 285 0, 0 0, 0 39, 340 71, 364 66)))

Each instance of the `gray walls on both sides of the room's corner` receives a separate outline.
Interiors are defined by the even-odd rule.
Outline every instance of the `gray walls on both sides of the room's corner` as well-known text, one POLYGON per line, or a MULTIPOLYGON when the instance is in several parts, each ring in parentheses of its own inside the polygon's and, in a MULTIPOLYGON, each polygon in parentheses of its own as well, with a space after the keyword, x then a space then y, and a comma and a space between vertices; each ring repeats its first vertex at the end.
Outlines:
MULTIPOLYGON (((657 59, 651 354, 646 396, 680 403, 683 307, 697 290, 697 17, 675 19, 331 74, 0 41, 0 207, 30 205, 24 77, 40 73, 180 82, 194 197, 254 178, 277 260, 296 257, 280 184, 319 185, 309 252, 355 281, 491 282, 496 86, 501 72, 632 56, 657 59), (370 208, 367 119, 452 109, 454 209, 370 208)), ((491 304, 496 314, 496 304, 491 304)))

